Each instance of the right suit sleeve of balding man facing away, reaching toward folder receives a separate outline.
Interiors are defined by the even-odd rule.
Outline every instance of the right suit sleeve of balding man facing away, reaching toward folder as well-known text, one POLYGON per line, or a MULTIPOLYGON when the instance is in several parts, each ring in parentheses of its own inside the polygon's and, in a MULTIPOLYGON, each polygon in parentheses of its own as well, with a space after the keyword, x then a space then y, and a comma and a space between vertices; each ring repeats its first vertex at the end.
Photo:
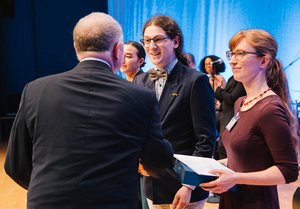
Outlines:
POLYGON ((163 139, 157 100, 153 92, 151 95, 152 118, 141 153, 141 163, 151 176, 159 177, 164 168, 172 165, 173 148, 169 141, 163 139))

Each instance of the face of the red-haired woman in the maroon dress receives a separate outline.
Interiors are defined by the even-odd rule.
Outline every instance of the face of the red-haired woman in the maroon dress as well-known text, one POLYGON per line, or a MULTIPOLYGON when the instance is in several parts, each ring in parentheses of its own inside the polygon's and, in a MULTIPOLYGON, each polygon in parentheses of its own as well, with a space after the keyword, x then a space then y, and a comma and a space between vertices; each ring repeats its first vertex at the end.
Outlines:
MULTIPOLYGON (((236 47, 232 49, 236 51, 256 52, 253 47, 245 40, 241 40, 236 47)), ((230 65, 234 79, 242 82, 243 84, 251 83, 253 80, 260 79, 261 76, 265 77, 265 70, 262 69, 262 57, 256 54, 245 54, 241 59, 237 60, 234 55, 230 59, 230 65)))

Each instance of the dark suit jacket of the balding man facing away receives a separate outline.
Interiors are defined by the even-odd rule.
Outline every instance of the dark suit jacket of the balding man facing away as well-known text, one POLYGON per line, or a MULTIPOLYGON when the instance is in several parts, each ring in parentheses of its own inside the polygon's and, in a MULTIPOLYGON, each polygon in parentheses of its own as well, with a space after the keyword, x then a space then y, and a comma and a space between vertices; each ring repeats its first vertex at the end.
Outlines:
POLYGON ((26 85, 5 170, 29 209, 132 209, 139 159, 158 176, 172 157, 153 92, 89 60, 26 85))

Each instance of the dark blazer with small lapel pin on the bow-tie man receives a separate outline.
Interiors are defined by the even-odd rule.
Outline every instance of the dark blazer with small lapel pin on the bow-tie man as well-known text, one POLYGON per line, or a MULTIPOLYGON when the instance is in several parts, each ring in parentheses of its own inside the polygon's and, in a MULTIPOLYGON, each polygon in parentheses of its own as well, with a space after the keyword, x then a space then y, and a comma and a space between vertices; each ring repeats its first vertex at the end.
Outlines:
MULTIPOLYGON (((148 73, 136 77, 135 83, 155 91, 148 73)), ((159 100, 164 137, 176 154, 212 157, 216 134, 214 93, 205 74, 178 62, 159 100)), ((172 168, 164 170, 160 179, 146 177, 145 194, 154 204, 170 204, 182 186, 172 168)), ((191 201, 207 198, 208 192, 197 187, 191 201)))

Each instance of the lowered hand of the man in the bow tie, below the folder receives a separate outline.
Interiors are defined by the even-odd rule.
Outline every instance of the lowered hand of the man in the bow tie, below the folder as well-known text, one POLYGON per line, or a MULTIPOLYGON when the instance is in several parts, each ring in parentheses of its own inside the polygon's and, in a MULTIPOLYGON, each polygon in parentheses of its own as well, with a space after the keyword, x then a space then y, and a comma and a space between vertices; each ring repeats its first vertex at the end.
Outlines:
POLYGON ((176 193, 173 203, 172 209, 183 209, 185 208, 191 201, 192 189, 182 186, 176 193))

